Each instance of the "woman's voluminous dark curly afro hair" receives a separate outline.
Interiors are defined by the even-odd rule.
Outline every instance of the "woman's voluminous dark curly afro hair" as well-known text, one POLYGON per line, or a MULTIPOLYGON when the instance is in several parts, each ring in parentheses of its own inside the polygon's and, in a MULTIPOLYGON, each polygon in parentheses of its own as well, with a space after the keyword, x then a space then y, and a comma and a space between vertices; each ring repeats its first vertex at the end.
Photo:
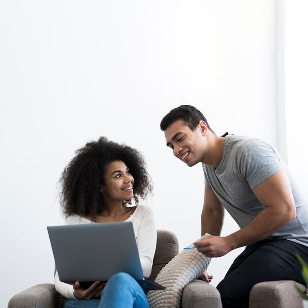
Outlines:
MULTIPOLYGON (((151 178, 146 171, 143 155, 124 144, 109 141, 100 137, 97 141, 87 143, 76 150, 76 156, 62 172, 60 203, 65 218, 72 214, 94 218, 104 208, 101 186, 109 163, 122 160, 134 178, 134 199, 145 199, 152 193, 151 178)), ((131 200, 123 200, 123 205, 131 200)))

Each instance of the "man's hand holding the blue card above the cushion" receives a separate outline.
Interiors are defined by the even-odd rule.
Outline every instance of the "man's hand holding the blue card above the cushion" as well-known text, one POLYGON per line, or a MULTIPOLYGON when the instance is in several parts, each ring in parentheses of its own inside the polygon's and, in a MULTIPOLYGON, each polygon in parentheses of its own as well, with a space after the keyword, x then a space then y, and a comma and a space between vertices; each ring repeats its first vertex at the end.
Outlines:
POLYGON ((193 245, 198 246, 197 250, 210 258, 221 257, 232 250, 228 239, 222 236, 208 236, 193 245))

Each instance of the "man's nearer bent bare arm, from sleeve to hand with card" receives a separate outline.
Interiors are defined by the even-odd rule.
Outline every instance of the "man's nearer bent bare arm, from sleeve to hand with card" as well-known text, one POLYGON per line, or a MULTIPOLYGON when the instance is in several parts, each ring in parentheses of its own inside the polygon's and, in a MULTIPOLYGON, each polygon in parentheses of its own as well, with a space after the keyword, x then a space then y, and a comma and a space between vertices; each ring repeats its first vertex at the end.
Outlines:
POLYGON ((279 171, 253 189, 253 193, 265 206, 252 221, 241 230, 227 237, 213 236, 194 243, 198 251, 209 257, 220 257, 229 251, 260 241, 278 231, 296 217, 292 190, 285 172, 279 171))

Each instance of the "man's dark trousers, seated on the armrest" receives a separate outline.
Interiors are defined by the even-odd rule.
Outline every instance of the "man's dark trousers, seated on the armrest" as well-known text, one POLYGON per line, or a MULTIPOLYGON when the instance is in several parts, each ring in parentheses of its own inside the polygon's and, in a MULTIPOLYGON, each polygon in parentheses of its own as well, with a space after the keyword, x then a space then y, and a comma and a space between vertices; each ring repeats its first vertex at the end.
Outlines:
POLYGON ((305 284, 296 251, 308 262, 308 247, 289 240, 263 240, 246 246, 217 285, 222 307, 248 307, 250 290, 259 282, 295 280, 305 284))

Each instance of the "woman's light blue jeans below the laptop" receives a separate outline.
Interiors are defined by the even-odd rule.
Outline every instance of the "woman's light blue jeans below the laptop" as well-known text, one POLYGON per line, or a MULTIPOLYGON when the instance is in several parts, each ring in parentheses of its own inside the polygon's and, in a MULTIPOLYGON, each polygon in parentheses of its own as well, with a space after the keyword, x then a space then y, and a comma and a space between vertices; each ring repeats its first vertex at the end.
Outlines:
POLYGON ((139 283, 126 273, 118 273, 108 280, 100 299, 67 299, 64 308, 149 308, 149 304, 139 283))

